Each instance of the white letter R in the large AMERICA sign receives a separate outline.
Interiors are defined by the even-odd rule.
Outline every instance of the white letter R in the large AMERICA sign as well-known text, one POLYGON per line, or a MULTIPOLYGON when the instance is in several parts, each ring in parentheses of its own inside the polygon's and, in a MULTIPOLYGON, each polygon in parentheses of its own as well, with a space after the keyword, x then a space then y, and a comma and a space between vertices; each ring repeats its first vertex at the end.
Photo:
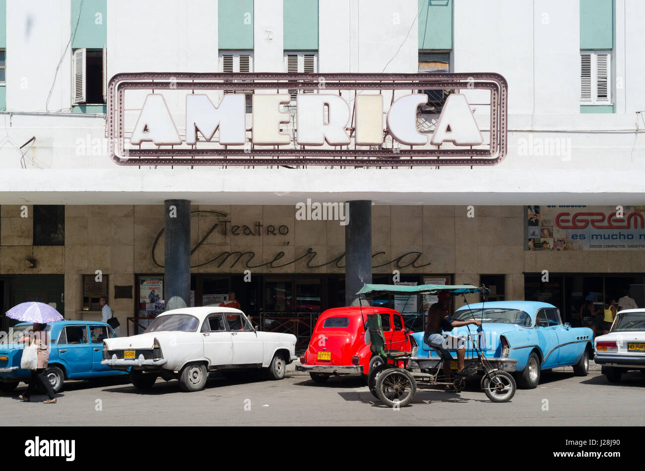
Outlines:
POLYGON ((345 131, 350 121, 350 107, 338 95, 298 95, 296 142, 301 145, 346 145, 350 137, 345 131), (328 107, 328 122, 324 120, 324 106, 328 107))

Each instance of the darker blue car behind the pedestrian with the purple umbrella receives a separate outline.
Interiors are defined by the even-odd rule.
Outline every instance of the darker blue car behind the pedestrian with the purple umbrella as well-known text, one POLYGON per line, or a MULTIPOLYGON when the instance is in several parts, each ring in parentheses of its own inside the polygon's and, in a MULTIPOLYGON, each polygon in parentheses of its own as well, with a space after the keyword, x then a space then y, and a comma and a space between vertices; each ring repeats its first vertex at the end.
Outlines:
MULTIPOLYGON (((16 344, 24 331, 33 324, 21 323, 14 326, 9 337, 0 344, 0 391, 13 391, 21 381, 29 378, 29 371, 21 369, 24 344, 16 344)), ((51 348, 46 375, 54 391, 63 389, 66 379, 88 380, 101 376, 128 374, 127 371, 114 371, 101 365, 103 360, 103 340, 114 337, 112 328, 104 322, 86 320, 60 320, 48 324, 51 348)))

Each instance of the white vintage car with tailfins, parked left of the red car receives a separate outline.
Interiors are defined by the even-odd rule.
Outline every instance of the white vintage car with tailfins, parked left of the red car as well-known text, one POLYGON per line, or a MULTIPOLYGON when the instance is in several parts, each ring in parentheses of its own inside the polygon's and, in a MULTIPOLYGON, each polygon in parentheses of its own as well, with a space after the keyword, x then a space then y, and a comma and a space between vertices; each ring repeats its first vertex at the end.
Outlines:
POLYGON ((126 371, 135 387, 150 389, 157 377, 179 379, 184 391, 199 391, 208 371, 268 369, 284 378, 297 359, 295 335, 258 332, 239 309, 184 308, 157 316, 143 334, 103 341, 102 365, 126 371))

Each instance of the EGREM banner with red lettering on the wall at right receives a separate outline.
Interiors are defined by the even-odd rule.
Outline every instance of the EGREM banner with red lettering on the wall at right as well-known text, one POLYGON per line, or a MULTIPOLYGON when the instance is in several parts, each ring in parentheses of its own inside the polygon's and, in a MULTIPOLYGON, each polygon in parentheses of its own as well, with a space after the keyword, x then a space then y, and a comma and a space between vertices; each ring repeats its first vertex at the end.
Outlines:
POLYGON ((642 250, 645 206, 528 206, 528 250, 642 250))

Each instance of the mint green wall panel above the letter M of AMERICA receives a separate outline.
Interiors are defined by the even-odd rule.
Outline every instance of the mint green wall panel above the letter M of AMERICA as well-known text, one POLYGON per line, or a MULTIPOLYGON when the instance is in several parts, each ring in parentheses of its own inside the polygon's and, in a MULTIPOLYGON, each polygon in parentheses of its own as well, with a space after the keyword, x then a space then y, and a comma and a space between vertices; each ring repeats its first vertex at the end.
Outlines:
POLYGON ((253 0, 219 0, 219 49, 253 49, 253 0))

